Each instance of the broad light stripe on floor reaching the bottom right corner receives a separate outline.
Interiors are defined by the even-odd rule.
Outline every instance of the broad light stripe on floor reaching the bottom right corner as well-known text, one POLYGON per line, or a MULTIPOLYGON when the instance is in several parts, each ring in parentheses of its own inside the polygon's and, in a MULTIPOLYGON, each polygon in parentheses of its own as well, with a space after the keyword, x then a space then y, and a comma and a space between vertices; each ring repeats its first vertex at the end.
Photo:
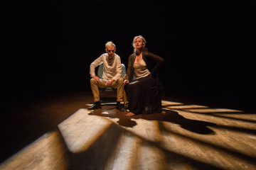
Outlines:
MULTIPOLYGON (((178 129, 177 125, 164 123, 164 127, 169 130, 170 134, 164 137, 163 145, 161 146, 171 152, 181 154, 198 162, 214 165, 220 169, 256 168, 252 162, 233 154, 236 152, 237 147, 234 146, 236 148, 234 152, 227 152, 231 148, 226 149, 223 147, 226 146, 224 141, 214 140, 222 138, 220 133, 218 133, 218 136, 215 135, 213 137, 197 135, 195 133, 184 133, 183 131, 182 134, 178 134, 177 132, 171 132, 178 129)), ((178 132, 181 131, 178 130, 178 132)))

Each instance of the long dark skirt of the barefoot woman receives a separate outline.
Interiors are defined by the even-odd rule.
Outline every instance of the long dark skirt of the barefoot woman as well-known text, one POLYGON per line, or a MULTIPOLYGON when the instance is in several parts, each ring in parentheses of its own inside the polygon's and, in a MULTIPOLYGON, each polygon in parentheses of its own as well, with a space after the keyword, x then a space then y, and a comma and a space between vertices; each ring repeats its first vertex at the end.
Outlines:
POLYGON ((142 77, 124 86, 129 102, 128 109, 134 114, 161 113, 161 89, 156 79, 142 77))

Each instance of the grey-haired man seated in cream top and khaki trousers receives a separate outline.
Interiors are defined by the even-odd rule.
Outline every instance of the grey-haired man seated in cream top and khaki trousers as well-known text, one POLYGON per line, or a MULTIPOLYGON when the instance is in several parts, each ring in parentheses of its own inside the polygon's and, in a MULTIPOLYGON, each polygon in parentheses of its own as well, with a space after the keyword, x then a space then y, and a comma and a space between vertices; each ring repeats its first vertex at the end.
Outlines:
POLYGON ((107 42, 105 46, 107 53, 101 55, 97 60, 90 64, 90 76, 92 77, 92 79, 90 79, 90 86, 95 103, 89 107, 88 110, 101 108, 98 87, 106 88, 111 86, 112 88, 117 89, 117 110, 124 111, 124 108, 122 108, 120 104, 120 101, 123 101, 122 98, 124 92, 124 79, 121 78, 121 60, 120 57, 114 53, 116 51, 116 47, 113 42, 107 42), (102 79, 100 79, 95 75, 95 67, 102 63, 104 65, 104 69, 102 79))

